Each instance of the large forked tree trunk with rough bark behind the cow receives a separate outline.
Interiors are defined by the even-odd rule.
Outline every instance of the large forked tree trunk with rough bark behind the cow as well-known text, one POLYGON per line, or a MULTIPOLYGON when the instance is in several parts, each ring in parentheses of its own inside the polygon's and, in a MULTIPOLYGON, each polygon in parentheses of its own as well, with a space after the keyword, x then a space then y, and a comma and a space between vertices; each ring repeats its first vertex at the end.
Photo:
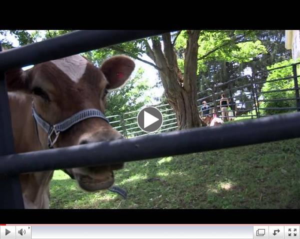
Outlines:
POLYGON ((177 58, 170 33, 162 34, 163 52, 160 39, 151 38, 153 50, 148 51, 159 67, 164 92, 176 113, 178 129, 201 126, 197 108, 196 69, 199 31, 188 31, 184 57, 184 74, 178 68, 177 58))

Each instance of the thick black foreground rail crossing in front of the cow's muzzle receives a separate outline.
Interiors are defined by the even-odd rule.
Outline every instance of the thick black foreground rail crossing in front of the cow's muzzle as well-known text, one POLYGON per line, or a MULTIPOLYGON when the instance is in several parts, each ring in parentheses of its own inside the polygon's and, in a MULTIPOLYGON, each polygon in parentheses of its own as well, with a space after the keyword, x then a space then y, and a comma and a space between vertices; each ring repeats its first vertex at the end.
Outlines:
POLYGON ((0 156, 0 174, 107 165, 300 137, 300 113, 0 156))

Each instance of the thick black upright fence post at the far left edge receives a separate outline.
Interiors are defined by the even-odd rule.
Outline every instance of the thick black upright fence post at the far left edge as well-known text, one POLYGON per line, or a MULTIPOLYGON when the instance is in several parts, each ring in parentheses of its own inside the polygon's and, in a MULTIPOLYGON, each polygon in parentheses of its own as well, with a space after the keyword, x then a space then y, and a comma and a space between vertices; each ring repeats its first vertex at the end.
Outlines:
MULTIPOLYGON (((2 51, 0 45, 0 51, 2 51)), ((5 75, 0 71, 0 155, 14 153, 5 75)), ((1 162, 0 162, 1 163, 1 162)), ((0 208, 24 208, 18 175, 0 177, 0 208)))

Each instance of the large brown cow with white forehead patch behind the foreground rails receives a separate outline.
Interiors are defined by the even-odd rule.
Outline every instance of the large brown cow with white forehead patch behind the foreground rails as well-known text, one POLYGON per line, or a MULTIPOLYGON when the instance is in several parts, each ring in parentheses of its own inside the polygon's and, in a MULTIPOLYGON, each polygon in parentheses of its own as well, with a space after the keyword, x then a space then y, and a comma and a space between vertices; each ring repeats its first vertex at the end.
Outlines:
MULTIPOLYGON (((100 68, 80 55, 73 55, 36 64, 26 71, 6 71, 15 151, 20 153, 122 138, 101 112, 104 112, 107 91, 122 86, 134 66, 131 59, 122 55, 104 61, 100 68), (33 116, 32 109, 37 116, 33 116), (66 119, 72 121, 72 115, 86 109, 102 116, 82 118, 61 132, 49 133, 47 127, 41 126, 40 120, 54 126, 66 119)), ((66 170, 82 189, 96 191, 110 187, 114 182, 112 170, 122 167, 123 164, 66 170)), ((53 171, 20 175, 25 208, 49 207, 52 175, 53 171)))

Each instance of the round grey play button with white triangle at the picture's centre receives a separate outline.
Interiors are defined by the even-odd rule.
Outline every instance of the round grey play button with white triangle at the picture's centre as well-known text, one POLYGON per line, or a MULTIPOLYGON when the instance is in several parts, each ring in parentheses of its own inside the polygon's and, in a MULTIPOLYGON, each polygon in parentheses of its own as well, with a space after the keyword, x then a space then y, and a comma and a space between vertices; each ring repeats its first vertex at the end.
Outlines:
POLYGON ((163 122, 161 112, 153 107, 148 106, 139 111, 137 114, 137 124, 145 132, 154 132, 158 130, 163 122))

